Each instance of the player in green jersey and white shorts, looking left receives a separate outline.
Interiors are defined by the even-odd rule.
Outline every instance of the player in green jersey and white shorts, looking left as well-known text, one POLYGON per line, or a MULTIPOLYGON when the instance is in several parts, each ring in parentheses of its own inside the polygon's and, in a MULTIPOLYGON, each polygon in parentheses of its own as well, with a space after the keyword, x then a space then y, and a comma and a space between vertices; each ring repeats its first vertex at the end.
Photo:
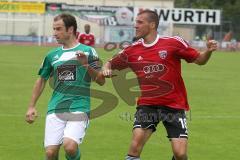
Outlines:
POLYGON ((67 160, 80 160, 78 145, 88 126, 90 83, 105 83, 96 51, 77 42, 76 29, 72 15, 60 14, 54 18, 54 37, 62 46, 45 57, 26 113, 26 121, 33 123, 37 117, 36 102, 51 79, 53 94, 48 104, 44 139, 47 160, 58 159, 61 144, 67 160))

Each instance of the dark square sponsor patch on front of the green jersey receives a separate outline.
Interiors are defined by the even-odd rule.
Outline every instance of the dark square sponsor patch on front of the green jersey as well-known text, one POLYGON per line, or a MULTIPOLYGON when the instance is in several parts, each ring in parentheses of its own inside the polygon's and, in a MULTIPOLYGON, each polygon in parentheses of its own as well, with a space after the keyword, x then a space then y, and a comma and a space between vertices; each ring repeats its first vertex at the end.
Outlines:
POLYGON ((76 65, 62 65, 57 67, 58 81, 75 81, 76 65))

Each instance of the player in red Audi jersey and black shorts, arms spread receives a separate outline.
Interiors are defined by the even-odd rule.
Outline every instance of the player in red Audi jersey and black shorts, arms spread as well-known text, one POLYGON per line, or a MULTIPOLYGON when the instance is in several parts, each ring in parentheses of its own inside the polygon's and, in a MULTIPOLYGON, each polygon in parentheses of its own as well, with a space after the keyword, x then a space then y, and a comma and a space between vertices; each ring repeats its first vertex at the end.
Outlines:
POLYGON ((103 74, 131 68, 137 75, 141 96, 133 125, 133 136, 126 160, 140 160, 144 144, 162 121, 171 142, 173 160, 187 160, 188 131, 185 111, 187 92, 181 76, 181 59, 204 65, 217 49, 214 40, 200 53, 182 38, 160 37, 159 18, 150 10, 138 14, 135 23, 138 41, 122 50, 104 65, 103 74))

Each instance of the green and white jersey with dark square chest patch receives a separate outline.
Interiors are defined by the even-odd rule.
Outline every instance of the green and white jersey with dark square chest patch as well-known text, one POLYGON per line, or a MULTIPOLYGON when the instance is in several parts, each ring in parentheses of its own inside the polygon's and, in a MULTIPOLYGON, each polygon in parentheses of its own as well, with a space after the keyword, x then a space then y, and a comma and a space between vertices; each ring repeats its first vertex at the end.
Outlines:
POLYGON ((74 48, 58 47, 45 57, 39 75, 53 88, 48 103, 48 114, 90 111, 91 77, 86 68, 77 61, 76 51, 88 57, 91 67, 98 69, 98 55, 92 47, 78 44, 74 48))

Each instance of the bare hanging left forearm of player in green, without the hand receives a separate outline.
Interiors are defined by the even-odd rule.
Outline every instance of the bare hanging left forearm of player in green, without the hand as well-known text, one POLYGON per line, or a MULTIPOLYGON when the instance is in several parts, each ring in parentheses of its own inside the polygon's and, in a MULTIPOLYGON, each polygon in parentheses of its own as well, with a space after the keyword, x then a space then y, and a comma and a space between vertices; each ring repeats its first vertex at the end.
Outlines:
POLYGON ((43 78, 39 78, 34 87, 33 87, 33 92, 32 92, 32 97, 31 97, 31 101, 29 103, 29 107, 35 107, 38 98, 41 96, 42 91, 44 90, 46 84, 46 80, 44 80, 43 78))

